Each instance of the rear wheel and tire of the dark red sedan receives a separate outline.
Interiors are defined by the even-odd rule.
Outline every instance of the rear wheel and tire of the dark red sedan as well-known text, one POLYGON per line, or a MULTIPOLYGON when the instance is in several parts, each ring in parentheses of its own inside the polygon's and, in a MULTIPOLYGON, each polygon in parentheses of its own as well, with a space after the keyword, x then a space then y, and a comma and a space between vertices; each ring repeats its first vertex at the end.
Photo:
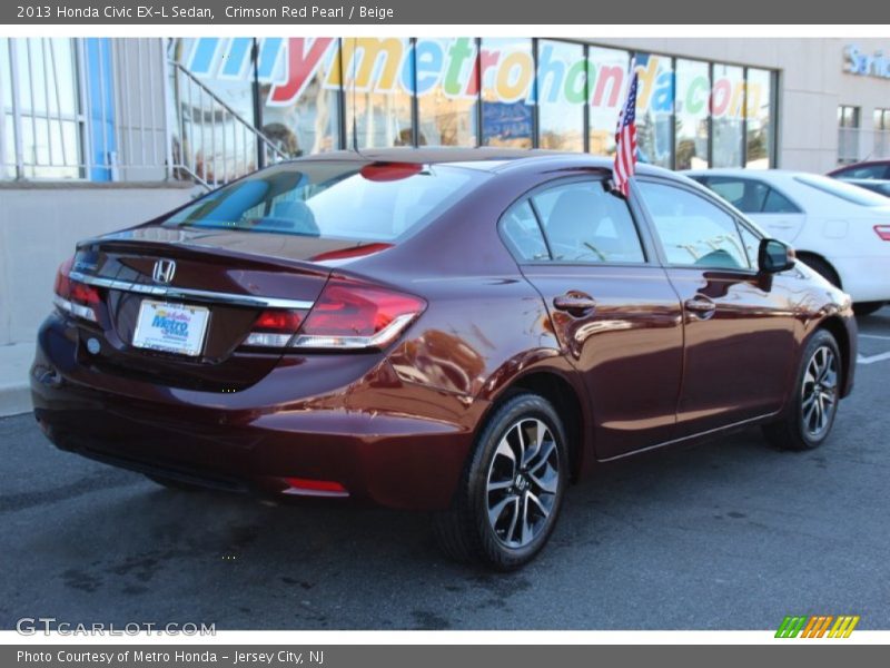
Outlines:
POLYGON ((536 394, 512 396, 479 432, 452 508, 434 515, 439 546, 452 559, 496 570, 528 563, 556 524, 568 462, 553 405, 536 394))

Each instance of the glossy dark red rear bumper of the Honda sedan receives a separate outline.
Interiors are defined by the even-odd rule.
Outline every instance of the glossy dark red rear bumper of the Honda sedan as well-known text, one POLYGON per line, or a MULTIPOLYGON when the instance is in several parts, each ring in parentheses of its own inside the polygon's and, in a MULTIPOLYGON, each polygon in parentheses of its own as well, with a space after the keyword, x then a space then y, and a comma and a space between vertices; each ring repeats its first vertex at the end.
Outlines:
POLYGON ((324 360, 315 370, 308 358, 279 364, 233 394, 110 377, 78 362, 79 343, 62 328, 55 317, 41 327, 30 377, 48 438, 62 450, 209 488, 336 495, 286 479, 328 481, 358 502, 443 509, 484 412, 485 402, 402 383, 383 356, 356 360, 356 369, 372 369, 347 385, 275 402, 269 390, 305 387, 307 375, 325 382, 324 360))

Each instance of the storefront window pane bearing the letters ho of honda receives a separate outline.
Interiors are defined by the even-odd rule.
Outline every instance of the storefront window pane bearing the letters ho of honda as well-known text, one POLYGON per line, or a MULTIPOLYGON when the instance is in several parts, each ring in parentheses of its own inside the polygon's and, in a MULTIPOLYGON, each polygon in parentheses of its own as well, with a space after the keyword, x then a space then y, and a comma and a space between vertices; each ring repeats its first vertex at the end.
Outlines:
POLYGON ((584 150, 585 65, 581 45, 547 40, 537 43, 541 148, 584 150))

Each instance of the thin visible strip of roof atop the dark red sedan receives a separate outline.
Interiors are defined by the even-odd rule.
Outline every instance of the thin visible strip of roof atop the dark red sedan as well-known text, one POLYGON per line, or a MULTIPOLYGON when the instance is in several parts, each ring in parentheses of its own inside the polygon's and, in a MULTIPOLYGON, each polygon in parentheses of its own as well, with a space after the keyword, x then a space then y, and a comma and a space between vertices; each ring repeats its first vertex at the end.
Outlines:
MULTIPOLYGON (((455 164, 487 171, 501 171, 521 166, 532 166, 543 160, 558 164, 562 167, 586 167, 592 169, 611 170, 614 158, 593 156, 582 153, 518 148, 498 148, 483 146, 477 148, 457 147, 397 147, 397 148, 363 148, 355 150, 335 150, 314 154, 293 160, 294 163, 307 160, 367 160, 370 163, 419 163, 455 164)), ((637 174, 671 175, 675 173, 646 164, 637 164, 637 174)))

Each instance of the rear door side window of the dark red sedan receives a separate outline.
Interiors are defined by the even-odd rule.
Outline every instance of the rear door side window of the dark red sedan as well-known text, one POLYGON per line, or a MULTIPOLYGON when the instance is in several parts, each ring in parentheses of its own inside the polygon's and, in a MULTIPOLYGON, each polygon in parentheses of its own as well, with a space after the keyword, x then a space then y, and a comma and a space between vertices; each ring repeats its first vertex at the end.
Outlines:
POLYGON ((645 262, 627 203, 601 181, 554 186, 532 197, 553 259, 576 263, 645 262))

